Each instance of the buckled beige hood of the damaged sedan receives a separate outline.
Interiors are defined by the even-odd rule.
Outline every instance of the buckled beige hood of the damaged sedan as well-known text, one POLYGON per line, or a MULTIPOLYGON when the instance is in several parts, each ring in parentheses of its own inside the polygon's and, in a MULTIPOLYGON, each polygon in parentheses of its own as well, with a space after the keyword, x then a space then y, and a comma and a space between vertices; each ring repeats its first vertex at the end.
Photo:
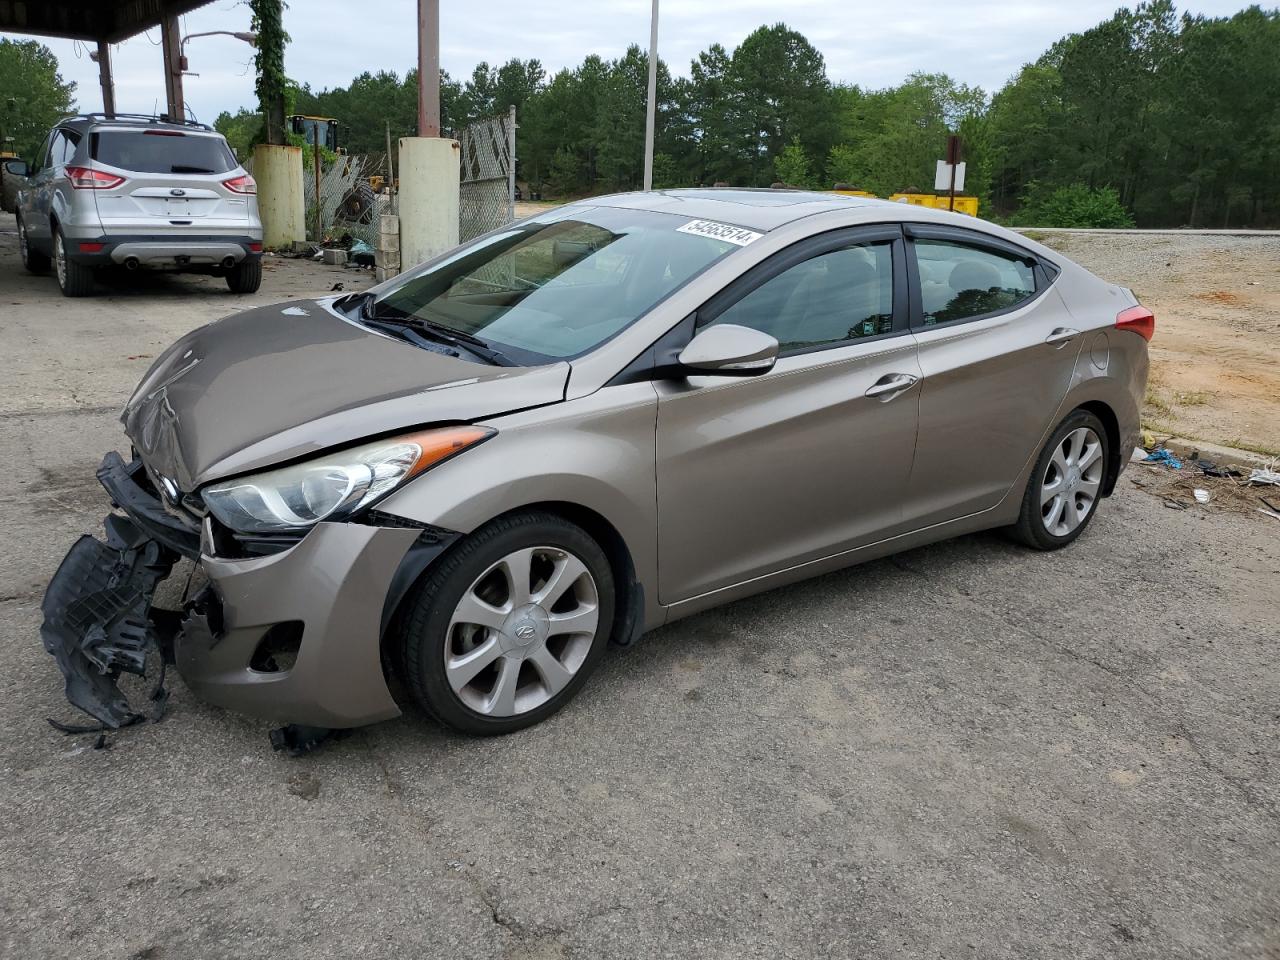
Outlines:
POLYGON ((147 466, 192 492, 393 430, 556 403, 568 372, 434 353, 347 319, 333 298, 301 300, 192 330, 120 420, 147 466))

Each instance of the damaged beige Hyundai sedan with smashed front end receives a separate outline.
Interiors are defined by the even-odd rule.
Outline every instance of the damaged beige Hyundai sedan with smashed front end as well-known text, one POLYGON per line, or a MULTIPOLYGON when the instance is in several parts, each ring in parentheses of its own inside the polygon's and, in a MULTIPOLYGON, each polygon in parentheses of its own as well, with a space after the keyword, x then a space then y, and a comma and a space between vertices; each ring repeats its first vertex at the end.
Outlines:
POLYGON ((170 347, 45 646, 108 727, 142 713, 120 675, 164 659, 292 749, 397 716, 392 675, 456 730, 518 730, 677 617, 987 527, 1071 543, 1137 439, 1153 326, 960 215, 564 206, 170 347), (161 611, 184 558, 202 586, 161 611))

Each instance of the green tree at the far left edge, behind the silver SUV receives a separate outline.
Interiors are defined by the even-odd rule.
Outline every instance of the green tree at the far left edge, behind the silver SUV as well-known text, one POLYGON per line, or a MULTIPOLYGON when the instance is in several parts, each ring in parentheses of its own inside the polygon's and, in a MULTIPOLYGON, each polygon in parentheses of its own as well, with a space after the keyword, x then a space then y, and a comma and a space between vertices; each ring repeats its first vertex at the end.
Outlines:
POLYGON ((72 113, 74 93, 47 46, 0 37, 0 151, 33 160, 49 128, 72 113))

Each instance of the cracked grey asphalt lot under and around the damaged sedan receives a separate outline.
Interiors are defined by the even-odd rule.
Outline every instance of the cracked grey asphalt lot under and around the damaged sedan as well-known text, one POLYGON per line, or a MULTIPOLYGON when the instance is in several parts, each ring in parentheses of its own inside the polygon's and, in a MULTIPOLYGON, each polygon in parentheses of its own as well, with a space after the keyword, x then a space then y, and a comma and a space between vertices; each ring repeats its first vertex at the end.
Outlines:
MULTIPOLYGON (((0 956, 1280 957, 1280 524, 1126 480, 682 621, 498 740, 303 759, 197 701, 63 736, 40 596, 148 357, 256 297, 63 300, 0 219, 0 956)), ((351 288, 351 287, 348 287, 351 288)))

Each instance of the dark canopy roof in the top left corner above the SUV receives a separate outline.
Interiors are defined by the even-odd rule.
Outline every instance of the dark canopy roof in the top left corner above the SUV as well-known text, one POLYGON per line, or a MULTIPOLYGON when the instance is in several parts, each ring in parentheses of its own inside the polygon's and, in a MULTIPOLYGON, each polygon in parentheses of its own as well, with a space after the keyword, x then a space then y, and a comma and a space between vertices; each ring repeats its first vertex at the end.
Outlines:
POLYGON ((0 32, 119 44, 210 0, 0 0, 0 32))

